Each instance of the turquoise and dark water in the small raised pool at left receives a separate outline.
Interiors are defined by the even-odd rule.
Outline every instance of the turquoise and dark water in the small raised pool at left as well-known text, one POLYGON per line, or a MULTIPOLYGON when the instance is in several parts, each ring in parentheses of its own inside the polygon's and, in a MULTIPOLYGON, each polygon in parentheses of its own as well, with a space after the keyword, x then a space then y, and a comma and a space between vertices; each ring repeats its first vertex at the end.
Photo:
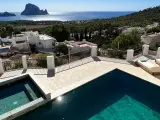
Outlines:
POLYGON ((0 115, 41 96, 29 77, 0 87, 0 115))

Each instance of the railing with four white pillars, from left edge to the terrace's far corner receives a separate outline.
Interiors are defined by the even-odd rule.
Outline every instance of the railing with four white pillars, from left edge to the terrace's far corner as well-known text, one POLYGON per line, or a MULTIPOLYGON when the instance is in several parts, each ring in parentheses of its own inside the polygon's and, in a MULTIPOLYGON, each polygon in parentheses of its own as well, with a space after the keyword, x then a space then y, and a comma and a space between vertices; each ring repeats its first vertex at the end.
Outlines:
MULTIPOLYGON (((91 47, 90 51, 80 51, 77 53, 72 53, 64 56, 47 56, 47 58, 43 59, 27 59, 26 56, 22 56, 22 59, 2 62, 0 59, 0 74, 3 74, 4 71, 13 70, 13 69, 28 69, 28 68, 46 68, 48 70, 55 69, 55 67, 70 64, 72 62, 82 60, 87 57, 95 57, 97 56, 97 46, 91 47)), ((70 67, 71 68, 71 67, 70 67)))

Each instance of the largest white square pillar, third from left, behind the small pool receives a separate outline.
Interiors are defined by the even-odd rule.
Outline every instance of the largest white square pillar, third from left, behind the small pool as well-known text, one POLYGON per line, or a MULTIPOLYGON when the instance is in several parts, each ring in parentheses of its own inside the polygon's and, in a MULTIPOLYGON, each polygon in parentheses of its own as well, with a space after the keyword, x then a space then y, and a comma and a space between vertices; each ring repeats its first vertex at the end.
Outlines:
POLYGON ((47 68, 48 70, 55 70, 54 56, 47 56, 47 68))

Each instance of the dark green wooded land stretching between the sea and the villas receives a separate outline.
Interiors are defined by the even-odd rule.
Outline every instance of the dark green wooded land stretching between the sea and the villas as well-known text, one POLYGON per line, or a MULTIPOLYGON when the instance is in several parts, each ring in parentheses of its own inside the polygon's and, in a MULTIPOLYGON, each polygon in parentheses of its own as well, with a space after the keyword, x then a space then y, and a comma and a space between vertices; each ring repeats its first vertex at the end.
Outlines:
MULTIPOLYGON (((0 36, 6 37, 12 34, 25 31, 27 25, 43 26, 46 28, 37 28, 40 33, 48 34, 57 39, 58 42, 70 40, 87 41, 96 43, 102 48, 128 49, 139 46, 140 35, 137 31, 128 34, 121 34, 124 26, 144 27, 153 22, 160 22, 160 6, 148 8, 143 11, 135 12, 130 15, 111 18, 96 19, 84 21, 6 21, 0 22, 0 36), (19 26, 24 26, 19 29, 19 26)), ((160 27, 147 30, 148 33, 160 32, 160 27)))

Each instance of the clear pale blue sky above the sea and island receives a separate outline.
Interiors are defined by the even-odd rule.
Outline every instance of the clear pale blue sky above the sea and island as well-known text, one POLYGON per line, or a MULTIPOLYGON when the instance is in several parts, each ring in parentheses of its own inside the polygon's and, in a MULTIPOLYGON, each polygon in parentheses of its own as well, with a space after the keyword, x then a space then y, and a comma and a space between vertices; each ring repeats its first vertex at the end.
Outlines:
POLYGON ((160 5, 160 0, 0 0, 0 12, 22 12, 27 3, 49 12, 139 11, 160 5))

